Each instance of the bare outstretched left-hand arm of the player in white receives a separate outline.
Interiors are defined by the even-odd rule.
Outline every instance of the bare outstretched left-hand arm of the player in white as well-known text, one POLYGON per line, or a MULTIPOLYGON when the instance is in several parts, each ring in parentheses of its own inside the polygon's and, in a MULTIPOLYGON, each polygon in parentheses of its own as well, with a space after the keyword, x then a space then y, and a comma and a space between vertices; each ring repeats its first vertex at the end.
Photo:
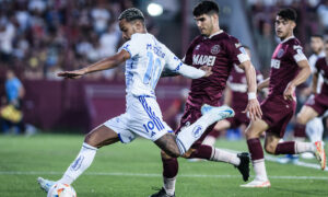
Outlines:
POLYGON ((59 72, 58 77, 78 79, 91 72, 115 68, 129 58, 130 58, 130 54, 127 50, 122 49, 119 53, 115 54, 114 56, 99 60, 85 68, 73 70, 73 71, 59 72))

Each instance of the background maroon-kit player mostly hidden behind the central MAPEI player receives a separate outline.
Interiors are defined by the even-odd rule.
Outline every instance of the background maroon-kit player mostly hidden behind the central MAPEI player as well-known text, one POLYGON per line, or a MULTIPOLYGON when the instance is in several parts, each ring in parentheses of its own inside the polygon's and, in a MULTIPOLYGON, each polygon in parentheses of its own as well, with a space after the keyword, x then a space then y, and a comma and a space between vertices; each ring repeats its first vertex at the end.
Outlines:
MULTIPOLYGON (((247 46, 243 47, 248 56, 251 57, 249 48, 247 46)), ((256 81, 257 83, 263 81, 263 76, 258 70, 256 70, 256 81)), ((213 131, 207 136, 202 143, 213 146, 216 137, 220 135, 218 132, 229 128, 242 127, 242 131, 244 134, 246 126, 249 124, 249 118, 244 112, 247 105, 247 83, 245 72, 235 65, 227 79, 227 85, 224 91, 224 104, 231 106, 235 111, 235 116, 218 121, 213 131)))

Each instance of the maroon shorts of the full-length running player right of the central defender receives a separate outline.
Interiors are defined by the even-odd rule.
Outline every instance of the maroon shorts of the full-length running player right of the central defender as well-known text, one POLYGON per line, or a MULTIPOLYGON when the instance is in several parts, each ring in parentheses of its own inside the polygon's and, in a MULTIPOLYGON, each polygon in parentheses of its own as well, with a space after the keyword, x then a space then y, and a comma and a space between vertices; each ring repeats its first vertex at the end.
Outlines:
POLYGON ((282 138, 285 127, 295 113, 295 108, 296 102, 286 101, 282 95, 267 97, 261 103, 262 120, 269 125, 267 132, 272 132, 282 138))

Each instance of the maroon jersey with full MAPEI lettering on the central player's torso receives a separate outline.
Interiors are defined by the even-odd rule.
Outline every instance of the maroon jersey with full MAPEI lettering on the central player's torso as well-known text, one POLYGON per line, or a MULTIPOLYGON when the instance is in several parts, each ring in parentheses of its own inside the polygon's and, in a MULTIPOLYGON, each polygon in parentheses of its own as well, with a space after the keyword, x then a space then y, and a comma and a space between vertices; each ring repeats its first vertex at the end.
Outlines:
POLYGON ((196 68, 212 67, 213 73, 192 80, 187 103, 199 108, 204 103, 218 106, 233 66, 246 60, 249 57, 238 39, 225 32, 196 37, 187 50, 185 62, 196 68))

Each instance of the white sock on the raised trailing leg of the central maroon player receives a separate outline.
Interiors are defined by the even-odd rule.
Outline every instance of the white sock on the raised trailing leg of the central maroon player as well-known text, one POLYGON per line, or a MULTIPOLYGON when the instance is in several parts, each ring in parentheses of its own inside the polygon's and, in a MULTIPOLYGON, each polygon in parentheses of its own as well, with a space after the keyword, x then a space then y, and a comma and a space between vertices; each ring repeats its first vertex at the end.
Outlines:
POLYGON ((210 160, 231 163, 235 166, 238 166, 241 164, 241 159, 237 157, 237 154, 220 150, 214 147, 212 147, 212 155, 210 160))

